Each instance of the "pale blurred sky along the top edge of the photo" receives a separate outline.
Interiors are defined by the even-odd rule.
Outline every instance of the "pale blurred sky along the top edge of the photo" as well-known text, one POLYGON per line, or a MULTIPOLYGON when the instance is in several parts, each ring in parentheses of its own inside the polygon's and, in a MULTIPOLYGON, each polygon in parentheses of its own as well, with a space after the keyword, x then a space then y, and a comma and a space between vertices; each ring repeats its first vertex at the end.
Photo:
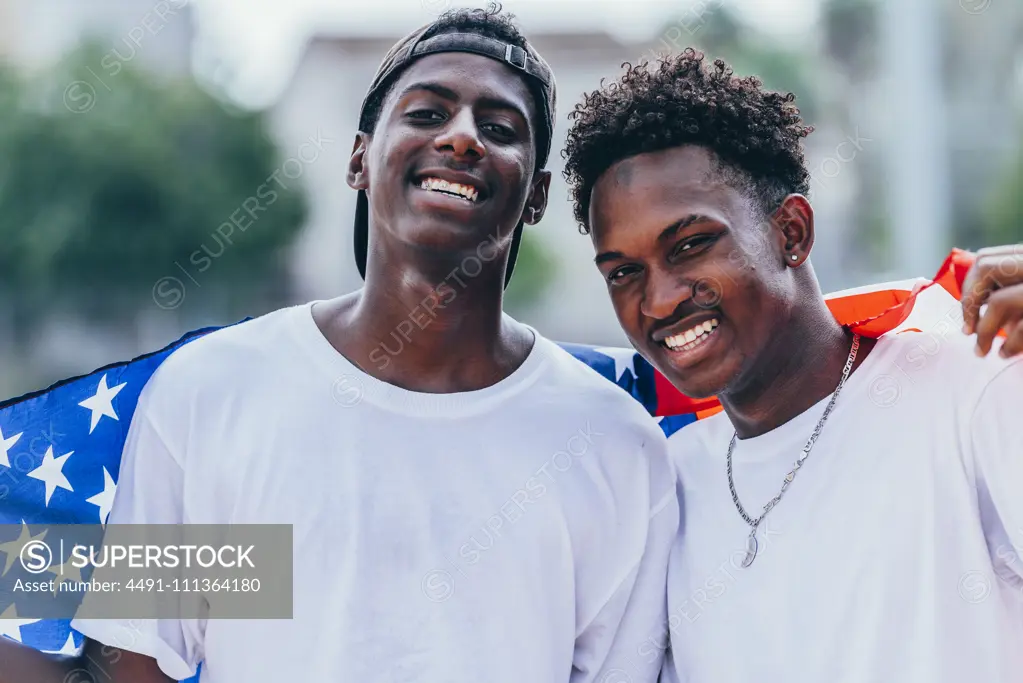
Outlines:
MULTIPOLYGON (((451 6, 474 0, 192 0, 199 30, 201 76, 232 83, 231 95, 265 106, 284 87, 313 33, 404 34, 451 6), (397 29, 397 30, 396 30, 397 29), (203 45, 210 46, 204 50, 203 45), (229 75, 229 76, 228 76, 229 75)), ((819 0, 502 0, 523 27, 586 22, 626 39, 654 39, 666 18, 719 3, 761 30, 802 37, 817 20, 819 0)))

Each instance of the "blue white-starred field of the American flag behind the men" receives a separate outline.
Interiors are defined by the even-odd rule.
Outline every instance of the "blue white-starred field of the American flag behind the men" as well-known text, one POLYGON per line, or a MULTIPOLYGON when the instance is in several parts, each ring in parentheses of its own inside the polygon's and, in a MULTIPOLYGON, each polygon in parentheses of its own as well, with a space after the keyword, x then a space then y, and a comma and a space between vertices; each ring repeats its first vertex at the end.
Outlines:
MULTIPOLYGON (((174 351, 215 329, 190 332, 159 352, 0 403, 0 523, 105 522, 142 389, 174 351)), ((655 371, 638 354, 561 346, 655 414, 655 371)), ((670 436, 695 419, 675 415, 660 424, 670 436)), ((14 542, 18 547, 19 541, 14 542)), ((12 600, 4 597, 2 586, 25 571, 16 556, 13 547, 5 550, 0 544, 0 635, 46 652, 75 653, 83 637, 70 621, 19 619, 12 600)), ((197 681, 197 675, 189 679, 197 681)))

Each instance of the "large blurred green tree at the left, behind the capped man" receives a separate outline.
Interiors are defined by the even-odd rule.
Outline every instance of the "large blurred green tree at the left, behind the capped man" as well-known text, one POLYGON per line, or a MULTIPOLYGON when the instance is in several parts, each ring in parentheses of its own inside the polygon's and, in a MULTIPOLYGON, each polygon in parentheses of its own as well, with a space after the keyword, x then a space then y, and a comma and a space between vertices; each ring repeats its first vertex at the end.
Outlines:
POLYGON ((19 323, 61 307, 128 320, 182 303, 178 283, 192 311, 226 315, 286 291, 306 199, 301 178, 271 178, 283 160, 261 116, 90 44, 31 81, 0 76, 0 289, 19 323))

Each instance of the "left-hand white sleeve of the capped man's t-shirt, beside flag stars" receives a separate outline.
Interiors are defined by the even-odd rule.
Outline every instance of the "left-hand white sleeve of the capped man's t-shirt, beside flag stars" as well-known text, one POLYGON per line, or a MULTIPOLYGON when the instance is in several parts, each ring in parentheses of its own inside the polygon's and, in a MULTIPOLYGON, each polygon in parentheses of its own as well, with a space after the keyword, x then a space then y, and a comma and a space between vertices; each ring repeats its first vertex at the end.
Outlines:
MULTIPOLYGON (((150 389, 143 390, 128 430, 108 525, 184 522, 181 456, 155 426, 160 411, 153 410, 150 389)), ((178 414, 186 410, 179 406, 178 414)), ((152 657, 175 680, 193 676, 203 658, 201 620, 76 619, 72 628, 104 645, 152 657)))

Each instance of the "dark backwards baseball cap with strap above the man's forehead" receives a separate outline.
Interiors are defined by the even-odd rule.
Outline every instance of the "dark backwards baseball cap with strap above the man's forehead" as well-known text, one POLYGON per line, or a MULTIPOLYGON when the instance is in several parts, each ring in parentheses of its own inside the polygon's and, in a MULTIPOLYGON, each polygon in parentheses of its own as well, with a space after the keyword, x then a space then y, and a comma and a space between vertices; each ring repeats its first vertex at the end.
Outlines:
MULTIPOLYGON (((518 45, 506 43, 496 38, 481 36, 476 33, 454 32, 441 33, 427 37, 432 29, 437 26, 436 21, 420 27, 412 32, 388 52, 381 62, 376 76, 373 77, 372 84, 366 92, 365 99, 362 100, 362 108, 359 112, 359 130, 369 132, 369 121, 367 120, 368 104, 387 91, 388 88, 401 76, 413 61, 428 54, 438 52, 469 52, 480 54, 485 57, 496 59, 518 70, 525 79, 530 91, 533 93, 536 105, 539 109, 540 131, 537 139, 537 168, 546 166, 550 156, 550 146, 554 130, 554 115, 557 111, 558 97, 554 76, 550 66, 539 55, 536 50, 527 44, 523 49, 518 45)), ((448 30, 450 31, 450 30, 448 30)), ((511 255, 508 258, 507 273, 504 278, 504 286, 507 286, 511 279, 511 271, 515 268, 516 257, 519 255, 519 243, 522 241, 523 223, 519 222, 516 227, 515 236, 511 242, 511 255)), ((355 264, 359 268, 359 275, 362 279, 366 277, 366 253, 369 246, 369 200, 366 198, 364 190, 359 190, 355 204, 355 264)))

